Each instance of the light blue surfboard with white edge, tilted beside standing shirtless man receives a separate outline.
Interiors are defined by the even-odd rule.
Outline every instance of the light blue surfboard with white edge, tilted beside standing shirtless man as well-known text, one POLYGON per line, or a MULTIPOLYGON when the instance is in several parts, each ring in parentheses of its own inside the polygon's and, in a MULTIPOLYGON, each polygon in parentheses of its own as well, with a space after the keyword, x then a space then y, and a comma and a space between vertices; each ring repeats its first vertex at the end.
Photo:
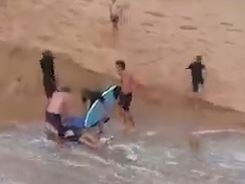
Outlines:
POLYGON ((84 127, 92 127, 104 118, 108 117, 117 100, 114 96, 114 90, 116 87, 116 85, 113 85, 102 93, 102 97, 104 98, 103 103, 98 99, 92 104, 86 114, 84 127))

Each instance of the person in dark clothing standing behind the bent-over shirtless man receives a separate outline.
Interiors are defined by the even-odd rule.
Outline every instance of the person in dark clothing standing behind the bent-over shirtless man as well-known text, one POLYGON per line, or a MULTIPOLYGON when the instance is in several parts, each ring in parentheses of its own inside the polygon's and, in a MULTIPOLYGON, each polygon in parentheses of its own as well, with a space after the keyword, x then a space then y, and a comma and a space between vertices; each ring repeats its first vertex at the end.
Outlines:
POLYGON ((43 86, 48 99, 52 97, 53 92, 56 90, 54 58, 55 57, 50 50, 45 50, 42 53, 42 59, 40 60, 43 73, 43 86))

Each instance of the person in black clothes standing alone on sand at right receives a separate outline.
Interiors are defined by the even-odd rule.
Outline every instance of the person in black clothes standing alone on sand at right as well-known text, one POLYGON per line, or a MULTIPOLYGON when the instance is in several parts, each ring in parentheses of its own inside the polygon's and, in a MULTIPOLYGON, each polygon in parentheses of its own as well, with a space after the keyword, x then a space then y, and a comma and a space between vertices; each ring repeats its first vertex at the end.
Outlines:
POLYGON ((193 92, 200 92, 204 85, 203 71, 206 67, 202 64, 202 56, 196 56, 196 61, 191 63, 186 69, 191 70, 193 92))

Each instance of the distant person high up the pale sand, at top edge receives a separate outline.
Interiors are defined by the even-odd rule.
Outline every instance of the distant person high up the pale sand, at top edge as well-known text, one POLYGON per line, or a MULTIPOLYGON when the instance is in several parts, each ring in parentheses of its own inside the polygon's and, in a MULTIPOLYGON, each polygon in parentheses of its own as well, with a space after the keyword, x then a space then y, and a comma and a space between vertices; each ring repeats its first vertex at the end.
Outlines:
POLYGON ((117 0, 111 0, 112 3, 109 7, 110 19, 112 22, 112 26, 115 30, 118 30, 118 23, 122 16, 122 7, 117 3, 117 0))

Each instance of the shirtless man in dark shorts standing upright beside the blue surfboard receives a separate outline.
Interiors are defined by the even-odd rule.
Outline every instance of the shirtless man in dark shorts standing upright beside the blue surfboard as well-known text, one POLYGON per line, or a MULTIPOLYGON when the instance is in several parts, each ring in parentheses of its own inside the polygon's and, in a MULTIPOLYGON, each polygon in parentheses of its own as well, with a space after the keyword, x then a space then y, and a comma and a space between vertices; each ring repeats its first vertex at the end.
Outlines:
POLYGON ((126 130, 131 130, 135 126, 135 122, 130 113, 130 105, 133 98, 133 89, 136 87, 136 82, 127 70, 126 64, 123 60, 117 60, 116 70, 121 80, 121 92, 119 94, 119 110, 120 115, 123 117, 123 122, 126 130))

